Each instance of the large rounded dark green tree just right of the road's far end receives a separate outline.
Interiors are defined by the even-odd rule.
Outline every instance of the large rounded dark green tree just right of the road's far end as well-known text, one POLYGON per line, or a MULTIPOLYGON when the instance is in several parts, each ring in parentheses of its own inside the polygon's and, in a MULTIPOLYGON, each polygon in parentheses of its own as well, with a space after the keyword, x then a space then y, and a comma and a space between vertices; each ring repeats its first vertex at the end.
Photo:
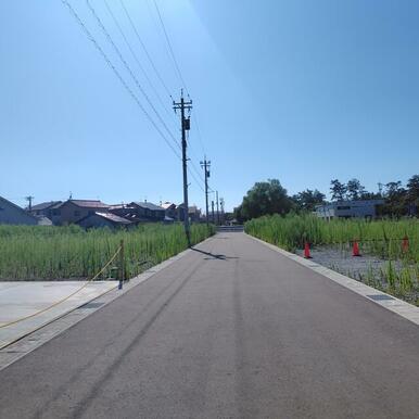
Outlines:
POLYGON ((242 219, 251 219, 268 214, 285 214, 291 207, 292 201, 279 180, 268 179, 265 182, 256 182, 247 191, 237 214, 242 219))

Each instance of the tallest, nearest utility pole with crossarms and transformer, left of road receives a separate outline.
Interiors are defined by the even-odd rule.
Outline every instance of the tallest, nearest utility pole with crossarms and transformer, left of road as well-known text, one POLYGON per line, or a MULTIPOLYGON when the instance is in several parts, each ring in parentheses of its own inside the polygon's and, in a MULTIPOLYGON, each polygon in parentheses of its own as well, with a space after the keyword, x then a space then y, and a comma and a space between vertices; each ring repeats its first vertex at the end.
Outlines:
POLYGON ((183 89, 180 91, 180 102, 173 102, 175 113, 180 110, 180 125, 182 130, 182 172, 183 172, 183 205, 185 205, 185 233, 187 234, 188 245, 191 245, 191 231, 189 226, 189 203, 188 203, 188 157, 187 157, 187 131, 191 128, 189 117, 185 117, 185 110, 192 109, 192 101, 185 101, 183 89))

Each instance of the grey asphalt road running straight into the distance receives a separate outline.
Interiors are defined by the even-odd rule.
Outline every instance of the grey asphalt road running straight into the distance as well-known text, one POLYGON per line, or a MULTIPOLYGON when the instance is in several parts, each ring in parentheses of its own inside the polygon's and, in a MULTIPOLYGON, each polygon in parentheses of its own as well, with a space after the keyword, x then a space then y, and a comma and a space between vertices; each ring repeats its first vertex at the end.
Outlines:
POLYGON ((419 328, 221 233, 0 372, 0 418, 418 418, 419 328))

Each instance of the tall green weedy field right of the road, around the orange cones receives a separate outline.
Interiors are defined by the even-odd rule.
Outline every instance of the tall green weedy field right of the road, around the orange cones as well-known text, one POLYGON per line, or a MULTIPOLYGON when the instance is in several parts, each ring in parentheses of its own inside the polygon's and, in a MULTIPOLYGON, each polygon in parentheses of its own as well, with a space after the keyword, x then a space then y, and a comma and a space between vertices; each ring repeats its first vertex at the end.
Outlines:
MULTIPOLYGON (((245 231, 290 252, 303 249, 305 242, 312 247, 340 249, 346 252, 351 243, 359 243, 361 254, 385 261, 378 271, 368 270, 363 281, 391 294, 419 305, 419 220, 337 219, 322 220, 313 215, 279 215, 252 219, 245 231), (408 250, 403 239, 408 238, 408 250)), ((351 256, 350 256, 351 257, 351 256)), ((360 275, 355 277, 360 279, 360 275)))

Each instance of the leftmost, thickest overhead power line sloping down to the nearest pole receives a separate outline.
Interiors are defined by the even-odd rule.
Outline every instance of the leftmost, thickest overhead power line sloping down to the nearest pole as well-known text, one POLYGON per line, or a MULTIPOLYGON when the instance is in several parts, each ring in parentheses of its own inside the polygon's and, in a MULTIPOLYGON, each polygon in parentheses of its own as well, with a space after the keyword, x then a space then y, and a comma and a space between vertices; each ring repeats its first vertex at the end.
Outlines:
POLYGON ((117 68, 114 66, 114 64, 112 64, 111 60, 109 59, 109 56, 106 55, 106 53, 103 51, 102 47, 98 43, 98 41, 94 39, 94 37, 91 35, 90 30, 87 28, 87 26, 84 24, 84 22, 81 21, 80 16, 77 14, 77 12, 73 9, 72 4, 68 3, 67 0, 61 0, 61 2, 67 7, 68 11, 71 12, 71 14, 73 15, 73 17, 77 21, 78 25, 80 26, 80 28, 82 29, 82 31, 85 33, 85 35, 87 36, 87 38, 93 43, 94 48, 100 52, 100 54, 102 55, 103 60, 106 62, 106 64, 111 67, 111 69, 113 71, 114 75, 118 78, 118 80, 120 81, 120 84, 124 86, 124 88, 127 90, 127 92, 129 93, 129 96, 134 99, 134 101, 137 103, 137 105, 140 107, 140 110, 143 112, 143 114, 145 115, 145 117, 151 122, 151 124, 153 125, 153 127, 156 129, 156 131, 160 134, 160 136, 163 138, 163 140, 166 142, 166 144, 172 149, 172 151, 175 153, 175 155, 181 160, 179 153, 177 150, 175 150, 175 148, 170 144, 170 142, 167 140, 166 136, 163 134, 163 131, 158 128, 158 126, 156 125, 156 123, 154 122, 154 119, 150 116, 150 114, 147 112, 147 110, 144 109, 144 106, 141 104, 140 100, 138 99, 138 97, 136 96, 136 93, 131 90, 131 88, 128 86, 128 84, 125 81, 125 79, 123 78, 123 76, 119 74, 119 72, 117 71, 117 68))

